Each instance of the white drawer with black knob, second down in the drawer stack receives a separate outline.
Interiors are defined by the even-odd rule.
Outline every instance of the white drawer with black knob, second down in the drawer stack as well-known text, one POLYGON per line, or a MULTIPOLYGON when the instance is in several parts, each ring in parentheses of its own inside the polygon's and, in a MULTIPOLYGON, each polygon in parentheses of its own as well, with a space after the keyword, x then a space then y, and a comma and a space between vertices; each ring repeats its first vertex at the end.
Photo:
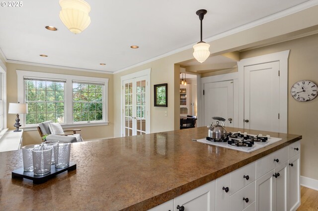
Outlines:
POLYGON ((242 211, 255 201, 255 181, 230 197, 230 211, 242 211), (248 199, 246 202, 243 199, 248 199))

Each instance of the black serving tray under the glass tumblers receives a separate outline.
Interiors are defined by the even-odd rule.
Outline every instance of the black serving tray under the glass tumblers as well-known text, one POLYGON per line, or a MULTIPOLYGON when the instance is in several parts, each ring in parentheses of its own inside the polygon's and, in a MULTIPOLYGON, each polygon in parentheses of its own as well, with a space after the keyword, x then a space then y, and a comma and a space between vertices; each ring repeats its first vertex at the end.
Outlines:
POLYGON ((45 183, 52 177, 55 177, 55 175, 58 175, 65 171, 72 171, 76 169, 76 163, 70 162, 70 165, 64 168, 55 168, 55 165, 51 165, 51 173, 46 175, 34 175, 33 171, 27 172, 23 170, 22 168, 15 169, 12 171, 12 178, 26 178, 29 180, 33 180, 33 184, 41 184, 45 183))

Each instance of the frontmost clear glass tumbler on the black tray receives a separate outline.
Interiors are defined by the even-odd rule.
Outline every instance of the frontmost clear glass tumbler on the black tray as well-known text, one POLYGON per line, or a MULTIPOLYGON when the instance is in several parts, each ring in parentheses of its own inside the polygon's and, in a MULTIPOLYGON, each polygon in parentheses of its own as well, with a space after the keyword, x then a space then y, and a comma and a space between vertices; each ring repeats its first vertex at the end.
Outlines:
POLYGON ((32 150, 34 175, 45 175, 51 172, 52 146, 41 146, 32 150))

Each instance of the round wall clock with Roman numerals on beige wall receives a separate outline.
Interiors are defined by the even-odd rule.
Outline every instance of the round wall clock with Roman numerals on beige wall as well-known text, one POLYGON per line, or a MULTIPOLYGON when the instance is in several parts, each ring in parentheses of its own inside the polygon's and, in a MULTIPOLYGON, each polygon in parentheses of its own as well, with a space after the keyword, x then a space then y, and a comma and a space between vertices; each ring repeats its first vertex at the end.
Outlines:
POLYGON ((312 101, 318 95, 318 87, 314 82, 304 80, 296 82, 290 92, 297 101, 312 101))

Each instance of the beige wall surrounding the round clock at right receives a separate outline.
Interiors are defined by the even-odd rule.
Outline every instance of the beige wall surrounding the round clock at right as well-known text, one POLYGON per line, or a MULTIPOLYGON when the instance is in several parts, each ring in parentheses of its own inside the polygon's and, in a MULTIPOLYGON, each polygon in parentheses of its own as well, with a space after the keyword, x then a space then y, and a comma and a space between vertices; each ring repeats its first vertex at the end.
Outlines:
MULTIPOLYGON (((241 52, 241 59, 290 49, 288 90, 300 80, 318 84, 318 34, 241 52)), ((288 133, 303 135, 301 175, 318 180, 318 98, 298 102, 288 95, 288 133)))

